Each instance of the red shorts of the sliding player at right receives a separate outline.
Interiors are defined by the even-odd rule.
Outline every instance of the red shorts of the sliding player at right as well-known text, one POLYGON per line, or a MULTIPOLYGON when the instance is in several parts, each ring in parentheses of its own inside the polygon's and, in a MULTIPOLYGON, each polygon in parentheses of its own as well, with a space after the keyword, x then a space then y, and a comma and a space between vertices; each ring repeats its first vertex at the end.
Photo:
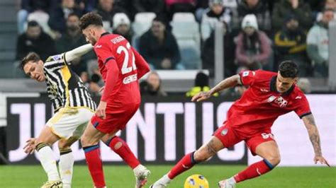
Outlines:
POLYGON ((228 124, 224 124, 222 127, 219 127, 213 136, 220 139, 225 148, 230 148, 240 141, 245 141, 247 147, 250 149, 252 155, 256 155, 255 148, 259 146, 260 143, 266 141, 275 141, 274 135, 271 134, 271 130, 265 130, 254 134, 252 136, 240 136, 240 134, 235 131, 235 128, 230 127, 228 124))

